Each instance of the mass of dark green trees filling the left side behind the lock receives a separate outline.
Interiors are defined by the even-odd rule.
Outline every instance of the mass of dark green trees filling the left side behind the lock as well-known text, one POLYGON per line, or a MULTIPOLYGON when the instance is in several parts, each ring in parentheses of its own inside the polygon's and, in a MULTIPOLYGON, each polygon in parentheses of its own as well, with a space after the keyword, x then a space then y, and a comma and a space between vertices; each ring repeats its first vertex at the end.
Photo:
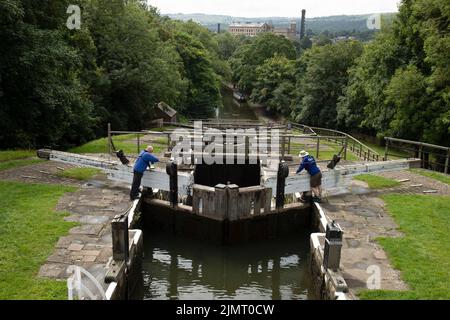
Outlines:
POLYGON ((231 71, 206 28, 139 0, 78 0, 70 31, 69 3, 0 2, 0 148, 70 148, 108 122, 144 129, 160 101, 202 115, 220 105, 231 71))

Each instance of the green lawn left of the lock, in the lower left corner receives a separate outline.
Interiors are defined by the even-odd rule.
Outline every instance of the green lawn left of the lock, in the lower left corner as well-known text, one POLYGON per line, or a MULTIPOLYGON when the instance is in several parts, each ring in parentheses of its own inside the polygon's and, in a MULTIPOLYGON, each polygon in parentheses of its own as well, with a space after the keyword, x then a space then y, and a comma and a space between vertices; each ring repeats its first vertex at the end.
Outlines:
POLYGON ((0 300, 67 299, 66 283, 39 279, 40 266, 75 223, 55 212, 75 188, 0 181, 0 300))

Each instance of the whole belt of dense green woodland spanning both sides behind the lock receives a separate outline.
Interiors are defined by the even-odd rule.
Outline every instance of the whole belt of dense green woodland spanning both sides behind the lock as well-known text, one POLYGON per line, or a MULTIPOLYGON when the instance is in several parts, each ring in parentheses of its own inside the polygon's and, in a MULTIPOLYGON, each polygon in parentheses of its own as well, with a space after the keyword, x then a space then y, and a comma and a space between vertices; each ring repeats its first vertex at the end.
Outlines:
POLYGON ((138 0, 1 0, 0 148, 143 129, 159 101, 205 117, 221 81, 295 122, 450 145, 449 19, 446 0, 404 0, 368 43, 295 42, 214 34, 138 0))

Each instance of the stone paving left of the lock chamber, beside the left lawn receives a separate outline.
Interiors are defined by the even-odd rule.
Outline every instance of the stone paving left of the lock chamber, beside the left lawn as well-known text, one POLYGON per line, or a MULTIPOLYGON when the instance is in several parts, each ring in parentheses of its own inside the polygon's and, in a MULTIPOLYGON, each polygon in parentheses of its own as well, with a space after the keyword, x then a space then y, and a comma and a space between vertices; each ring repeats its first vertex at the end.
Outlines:
POLYGON ((67 279, 67 267, 76 265, 104 284, 106 265, 112 256, 111 220, 125 212, 130 202, 128 186, 98 179, 97 176, 59 200, 56 210, 71 213, 65 220, 77 222, 79 226, 58 240, 39 276, 67 279))

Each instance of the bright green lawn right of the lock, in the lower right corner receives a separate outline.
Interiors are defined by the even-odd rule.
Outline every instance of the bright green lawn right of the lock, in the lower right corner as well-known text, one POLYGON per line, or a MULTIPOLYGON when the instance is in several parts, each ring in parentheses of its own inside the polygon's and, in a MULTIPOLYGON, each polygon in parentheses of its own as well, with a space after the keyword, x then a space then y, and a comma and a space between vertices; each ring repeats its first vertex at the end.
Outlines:
POLYGON ((450 299, 450 197, 385 195, 387 209, 405 234, 380 238, 410 290, 364 291, 362 299, 450 299))

